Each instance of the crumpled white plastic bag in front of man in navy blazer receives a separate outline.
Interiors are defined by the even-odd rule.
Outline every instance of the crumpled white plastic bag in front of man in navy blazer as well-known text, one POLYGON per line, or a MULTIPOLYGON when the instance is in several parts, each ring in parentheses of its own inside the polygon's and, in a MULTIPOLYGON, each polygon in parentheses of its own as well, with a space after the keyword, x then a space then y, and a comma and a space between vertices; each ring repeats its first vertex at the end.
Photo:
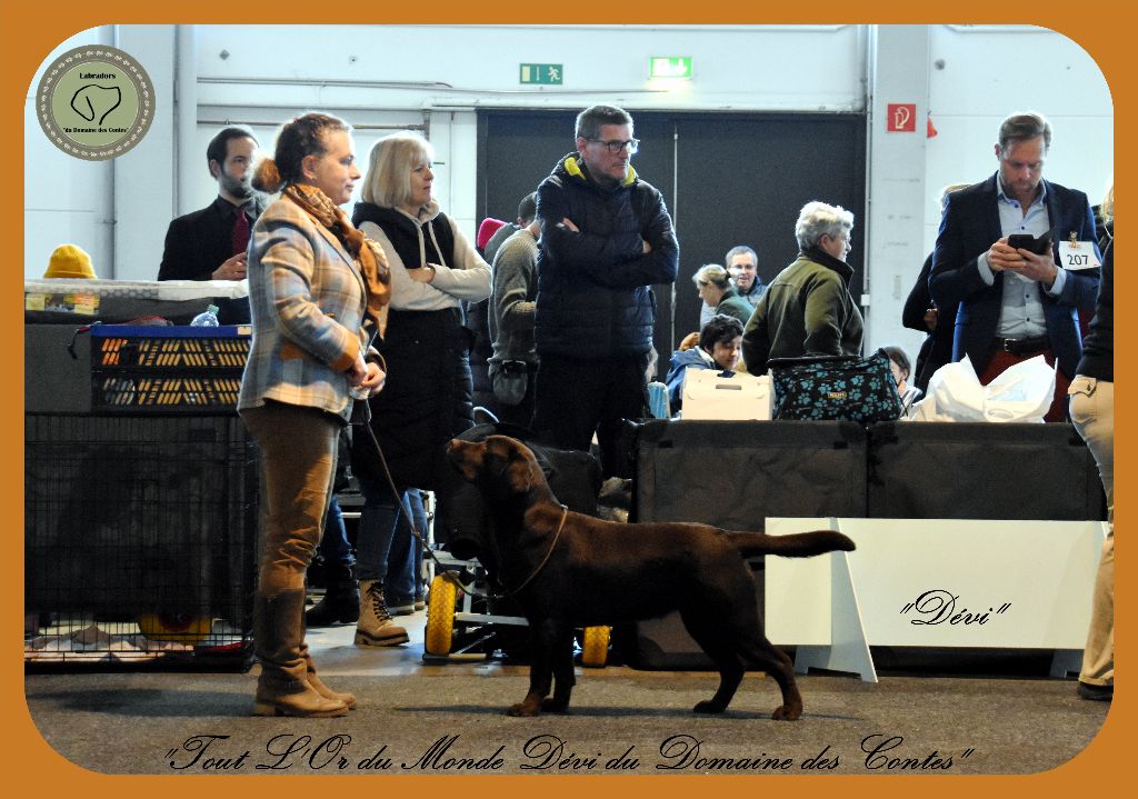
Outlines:
POLYGON ((916 403, 913 421, 1042 422, 1055 394, 1055 370, 1042 355, 1008 366, 980 385, 967 356, 946 363, 929 380, 927 396, 916 403))

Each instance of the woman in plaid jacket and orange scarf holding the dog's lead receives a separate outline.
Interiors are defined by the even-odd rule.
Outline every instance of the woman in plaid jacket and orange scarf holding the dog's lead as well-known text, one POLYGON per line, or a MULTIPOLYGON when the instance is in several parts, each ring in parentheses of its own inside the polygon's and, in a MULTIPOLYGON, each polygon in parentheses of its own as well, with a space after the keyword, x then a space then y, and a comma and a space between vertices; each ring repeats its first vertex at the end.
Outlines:
POLYGON ((380 390, 386 377, 365 360, 365 327, 384 321, 386 260, 339 208, 358 178, 347 124, 306 114, 283 126, 254 180, 282 189, 249 241, 253 345, 238 401, 262 459, 253 623, 261 716, 343 716, 355 705, 316 676, 304 574, 323 532, 339 430, 354 396, 380 390))

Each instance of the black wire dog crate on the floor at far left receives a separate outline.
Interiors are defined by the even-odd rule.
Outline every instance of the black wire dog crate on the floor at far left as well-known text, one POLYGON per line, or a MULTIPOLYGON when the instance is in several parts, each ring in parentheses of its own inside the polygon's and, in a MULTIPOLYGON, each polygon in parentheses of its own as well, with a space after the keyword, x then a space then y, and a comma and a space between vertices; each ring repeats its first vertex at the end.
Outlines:
POLYGON ((256 456, 228 417, 25 417, 25 665, 251 662, 256 456))

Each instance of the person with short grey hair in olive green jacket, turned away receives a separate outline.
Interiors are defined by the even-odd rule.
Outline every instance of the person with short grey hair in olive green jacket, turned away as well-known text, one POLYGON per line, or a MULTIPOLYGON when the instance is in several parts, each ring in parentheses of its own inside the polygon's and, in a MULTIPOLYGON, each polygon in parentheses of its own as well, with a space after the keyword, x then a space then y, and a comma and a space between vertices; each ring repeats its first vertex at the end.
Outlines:
POLYGON ((858 355, 861 312, 850 295, 853 214, 841 206, 807 203, 794 236, 799 254, 770 282, 743 332, 743 361, 752 374, 776 357, 858 355))

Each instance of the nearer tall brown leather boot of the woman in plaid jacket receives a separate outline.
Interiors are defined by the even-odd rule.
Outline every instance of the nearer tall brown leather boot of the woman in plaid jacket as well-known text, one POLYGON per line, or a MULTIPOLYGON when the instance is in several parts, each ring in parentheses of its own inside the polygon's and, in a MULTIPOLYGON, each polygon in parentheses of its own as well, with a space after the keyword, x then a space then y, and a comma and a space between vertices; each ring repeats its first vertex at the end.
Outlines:
POLYGON ((253 606, 253 641, 261 677, 253 703, 255 716, 328 718, 346 716, 348 706, 322 697, 307 679, 304 644, 304 588, 267 598, 253 606))

